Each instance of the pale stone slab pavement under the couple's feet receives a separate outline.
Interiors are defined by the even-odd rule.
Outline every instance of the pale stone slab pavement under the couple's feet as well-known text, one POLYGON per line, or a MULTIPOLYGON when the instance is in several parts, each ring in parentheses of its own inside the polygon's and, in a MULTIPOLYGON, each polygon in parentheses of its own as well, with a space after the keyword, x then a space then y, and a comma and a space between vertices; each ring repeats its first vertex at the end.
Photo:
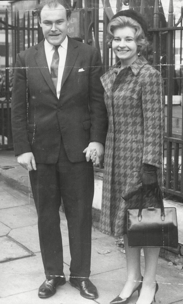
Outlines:
MULTIPOLYGON (((28 173, 21 168, 13 151, 0 151, 0 304, 108 304, 118 295, 125 284, 126 261, 121 248, 115 245, 115 238, 92 229, 91 281, 97 286, 99 297, 88 300, 69 283, 70 253, 67 223, 60 212, 64 249, 64 272, 67 283, 58 286, 54 296, 38 298, 38 287, 45 280, 38 240, 37 214, 28 195, 28 173), (107 254, 98 252, 110 251, 107 254)), ((168 206, 178 210, 179 241, 183 240, 182 205, 170 201, 168 206)), ((141 257, 142 275, 144 257, 141 257)), ((159 258, 157 282, 159 290, 156 302, 162 304, 183 304, 183 270, 168 266, 159 258)), ((135 304, 138 293, 132 295, 129 303, 135 304)))

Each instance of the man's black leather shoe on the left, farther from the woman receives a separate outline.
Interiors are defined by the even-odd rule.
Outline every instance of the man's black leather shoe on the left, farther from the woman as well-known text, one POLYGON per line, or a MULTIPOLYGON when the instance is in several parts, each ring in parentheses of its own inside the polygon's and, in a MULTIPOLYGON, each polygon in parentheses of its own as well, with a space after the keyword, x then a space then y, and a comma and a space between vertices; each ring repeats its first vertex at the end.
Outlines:
POLYGON ((66 283, 65 275, 62 277, 55 277, 51 280, 45 280, 39 287, 39 298, 48 298, 55 294, 57 285, 64 285, 66 283))

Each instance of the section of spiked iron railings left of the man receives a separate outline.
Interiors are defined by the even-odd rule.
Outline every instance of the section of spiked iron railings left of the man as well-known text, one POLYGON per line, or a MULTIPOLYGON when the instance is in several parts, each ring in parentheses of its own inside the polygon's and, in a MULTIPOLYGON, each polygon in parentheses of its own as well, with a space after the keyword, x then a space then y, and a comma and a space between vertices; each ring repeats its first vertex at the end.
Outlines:
POLYGON ((41 41, 43 35, 33 13, 20 19, 18 12, 10 16, 8 10, 5 21, 0 19, 0 33, 5 33, 5 67, 0 68, 0 148, 8 149, 13 147, 11 97, 16 55, 41 41))

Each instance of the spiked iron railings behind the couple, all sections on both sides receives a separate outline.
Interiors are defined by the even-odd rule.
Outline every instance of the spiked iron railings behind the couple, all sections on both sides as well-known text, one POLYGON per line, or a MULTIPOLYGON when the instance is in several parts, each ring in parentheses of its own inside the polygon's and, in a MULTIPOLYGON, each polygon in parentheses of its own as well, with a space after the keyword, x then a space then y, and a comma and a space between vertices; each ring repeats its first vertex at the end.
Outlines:
MULTIPOLYGON (((138 0, 140 1, 140 0, 138 0)), ((167 0, 168 2, 168 0, 167 0)), ((114 12, 111 9, 109 0, 74 0, 73 9, 84 9, 84 42, 94 45, 101 53, 104 72, 115 63, 115 57, 112 55, 111 49, 107 48, 105 37, 107 33, 107 25, 109 19, 114 12), (103 5, 103 13, 101 14, 101 3, 103 5)), ((144 1, 140 2, 140 12, 145 15, 144 1)), ((116 12, 122 9, 123 5, 129 5, 129 8, 135 7, 135 1, 117 0, 116 12)), ((159 71, 161 70, 167 105, 165 107, 165 147, 164 147, 164 190, 173 195, 183 198, 183 174, 181 174, 183 159, 183 134, 182 134, 182 106, 178 106, 178 117, 174 117, 174 99, 181 100, 182 104, 182 16, 181 9, 180 18, 175 23, 175 15, 173 12, 173 0, 169 0, 168 22, 162 19, 163 10, 161 2, 154 1, 154 24, 149 29, 150 44, 144 55, 150 64, 154 65, 159 71), (178 39, 177 39, 178 37, 178 39), (180 45, 177 50, 177 41, 180 45), (178 54, 176 54, 176 52, 178 54), (179 68, 175 70, 175 66, 179 68), (176 98, 175 98, 176 97, 176 98)), ((0 31, 5 31, 6 37, 6 63, 5 63, 5 90, 4 95, 0 92, 0 148, 12 147, 11 135, 11 82, 13 74, 13 66, 15 64, 15 56, 20 50, 30 47, 42 39, 42 32, 38 26, 35 16, 24 15, 23 19, 19 19, 18 12, 8 19, 6 12, 5 22, 0 20, 0 31), (9 64, 9 34, 12 37, 12 71, 8 69, 9 64), (22 37, 22 39, 20 38, 22 37), (7 141, 6 141, 7 138, 7 141)), ((1 70, 0 70, 1 72, 1 70)))

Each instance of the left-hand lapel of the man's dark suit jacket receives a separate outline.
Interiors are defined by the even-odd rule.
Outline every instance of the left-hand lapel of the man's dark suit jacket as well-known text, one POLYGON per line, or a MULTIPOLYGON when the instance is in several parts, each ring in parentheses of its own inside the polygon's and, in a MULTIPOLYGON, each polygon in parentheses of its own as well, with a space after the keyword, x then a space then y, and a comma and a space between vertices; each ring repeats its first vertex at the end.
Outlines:
POLYGON ((42 76, 44 77, 48 86, 51 88, 54 95, 57 96, 55 87, 52 82, 52 78, 50 76, 48 63, 46 60, 44 41, 41 41, 41 43, 39 43, 36 47, 37 47, 37 53, 35 54, 35 61, 38 65, 38 68, 40 69, 42 76))

